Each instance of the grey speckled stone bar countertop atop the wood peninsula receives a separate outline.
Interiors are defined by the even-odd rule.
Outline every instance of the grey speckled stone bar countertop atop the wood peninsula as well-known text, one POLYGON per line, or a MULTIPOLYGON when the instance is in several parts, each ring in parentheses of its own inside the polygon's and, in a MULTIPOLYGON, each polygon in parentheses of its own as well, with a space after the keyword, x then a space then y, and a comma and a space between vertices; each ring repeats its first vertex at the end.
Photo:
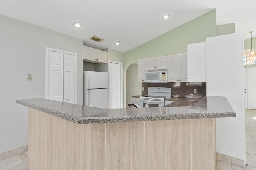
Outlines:
POLYGON ((225 97, 204 96, 194 106, 99 109, 43 98, 16 103, 78 124, 236 117, 225 97))

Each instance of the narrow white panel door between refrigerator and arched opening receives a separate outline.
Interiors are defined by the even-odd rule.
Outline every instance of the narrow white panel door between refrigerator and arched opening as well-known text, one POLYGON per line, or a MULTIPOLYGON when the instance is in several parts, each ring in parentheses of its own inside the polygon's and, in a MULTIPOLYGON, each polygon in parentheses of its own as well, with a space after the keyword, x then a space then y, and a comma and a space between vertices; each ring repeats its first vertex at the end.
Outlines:
POLYGON ((108 108, 117 109, 121 107, 121 64, 111 63, 109 65, 109 101, 108 108))

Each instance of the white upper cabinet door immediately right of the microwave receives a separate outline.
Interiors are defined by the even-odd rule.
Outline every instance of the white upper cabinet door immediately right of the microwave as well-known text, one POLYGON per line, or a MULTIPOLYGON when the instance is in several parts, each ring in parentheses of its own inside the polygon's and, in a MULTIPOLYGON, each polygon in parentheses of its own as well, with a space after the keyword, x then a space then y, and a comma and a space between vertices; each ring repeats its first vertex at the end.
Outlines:
POLYGON ((168 82, 179 81, 179 55, 168 56, 168 82))

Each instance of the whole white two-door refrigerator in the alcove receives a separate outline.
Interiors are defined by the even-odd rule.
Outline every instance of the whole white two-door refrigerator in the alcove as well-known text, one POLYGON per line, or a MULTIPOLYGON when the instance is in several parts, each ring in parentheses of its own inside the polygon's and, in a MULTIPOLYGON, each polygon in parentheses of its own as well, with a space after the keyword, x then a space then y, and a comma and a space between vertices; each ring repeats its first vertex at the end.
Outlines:
POLYGON ((108 73, 84 71, 84 106, 108 108, 108 73))

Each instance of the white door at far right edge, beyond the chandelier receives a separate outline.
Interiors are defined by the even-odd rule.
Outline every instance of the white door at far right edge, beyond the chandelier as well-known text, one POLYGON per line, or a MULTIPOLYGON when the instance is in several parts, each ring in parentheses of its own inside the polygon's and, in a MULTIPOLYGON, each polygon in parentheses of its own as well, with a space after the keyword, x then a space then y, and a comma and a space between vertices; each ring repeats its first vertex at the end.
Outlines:
POLYGON ((256 109, 256 69, 247 69, 247 109, 256 109))

